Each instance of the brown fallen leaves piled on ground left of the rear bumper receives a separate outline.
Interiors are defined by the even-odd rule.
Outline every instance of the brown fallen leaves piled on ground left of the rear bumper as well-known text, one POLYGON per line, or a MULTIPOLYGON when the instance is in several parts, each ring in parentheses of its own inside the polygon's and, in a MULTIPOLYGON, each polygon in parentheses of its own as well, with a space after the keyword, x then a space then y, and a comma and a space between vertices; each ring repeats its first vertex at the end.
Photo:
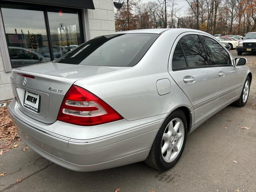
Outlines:
POLYGON ((15 125, 9 116, 7 107, 0 108, 0 155, 9 149, 18 147, 20 138, 16 132, 15 125))

